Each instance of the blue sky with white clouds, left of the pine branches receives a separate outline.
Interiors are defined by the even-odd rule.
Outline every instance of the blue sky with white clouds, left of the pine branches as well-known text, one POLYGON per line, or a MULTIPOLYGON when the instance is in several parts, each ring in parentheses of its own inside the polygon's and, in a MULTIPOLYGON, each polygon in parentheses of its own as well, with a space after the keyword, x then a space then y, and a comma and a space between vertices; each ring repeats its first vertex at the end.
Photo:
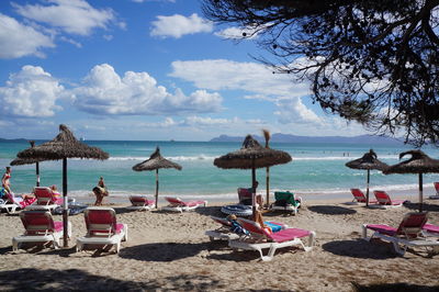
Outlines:
POLYGON ((0 137, 209 141, 367 134, 272 74, 198 0, 0 1, 0 137))

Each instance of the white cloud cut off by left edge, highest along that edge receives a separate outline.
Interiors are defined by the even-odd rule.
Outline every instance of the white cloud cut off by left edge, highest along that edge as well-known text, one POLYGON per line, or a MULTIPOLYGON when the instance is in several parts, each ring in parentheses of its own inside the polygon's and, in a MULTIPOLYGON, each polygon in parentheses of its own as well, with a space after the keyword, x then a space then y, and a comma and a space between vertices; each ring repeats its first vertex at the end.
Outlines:
POLYGON ((5 59, 30 55, 44 57, 44 54, 40 50, 41 48, 55 47, 49 36, 1 13, 0 46, 0 58, 5 59))

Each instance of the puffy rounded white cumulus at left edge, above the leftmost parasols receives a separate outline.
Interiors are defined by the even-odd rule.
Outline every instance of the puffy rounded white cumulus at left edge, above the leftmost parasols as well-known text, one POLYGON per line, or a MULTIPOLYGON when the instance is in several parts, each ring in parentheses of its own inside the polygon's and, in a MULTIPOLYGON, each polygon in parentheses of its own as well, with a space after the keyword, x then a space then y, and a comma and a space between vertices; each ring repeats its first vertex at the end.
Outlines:
POLYGON ((2 115, 16 117, 48 117, 60 108, 55 104, 64 91, 42 67, 24 66, 10 76, 5 87, 0 88, 2 115))

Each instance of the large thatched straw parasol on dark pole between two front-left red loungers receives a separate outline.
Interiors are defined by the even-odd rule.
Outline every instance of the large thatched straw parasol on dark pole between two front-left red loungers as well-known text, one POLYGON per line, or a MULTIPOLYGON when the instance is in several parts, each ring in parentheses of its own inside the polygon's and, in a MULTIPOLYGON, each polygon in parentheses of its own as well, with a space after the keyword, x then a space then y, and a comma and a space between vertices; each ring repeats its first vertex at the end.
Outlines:
MULTIPOLYGON (((63 196, 64 196, 64 234, 67 234, 68 198, 67 198, 67 158, 89 158, 104 160, 109 154, 98 147, 91 147, 79 142, 66 125, 59 125, 59 134, 49 142, 20 151, 18 158, 43 160, 63 159, 63 196)), ((67 247, 67 236, 64 236, 64 246, 67 247)))

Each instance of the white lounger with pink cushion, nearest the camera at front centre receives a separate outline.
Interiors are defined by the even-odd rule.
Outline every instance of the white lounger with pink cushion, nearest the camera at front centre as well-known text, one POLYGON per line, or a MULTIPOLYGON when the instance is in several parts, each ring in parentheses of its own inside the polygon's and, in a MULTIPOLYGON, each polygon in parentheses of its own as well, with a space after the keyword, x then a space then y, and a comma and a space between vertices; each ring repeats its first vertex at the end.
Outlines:
POLYGON ((228 246, 234 249, 256 250, 259 252, 261 260, 269 261, 273 258, 278 248, 301 246, 305 251, 312 249, 314 245, 315 233, 300 229, 285 228, 277 233, 268 233, 261 228, 259 223, 250 220, 238 218, 239 224, 250 234, 239 239, 228 242, 228 246), (308 237, 308 244, 305 246, 301 238, 308 237), (269 248, 267 256, 262 255, 262 249, 269 248))

